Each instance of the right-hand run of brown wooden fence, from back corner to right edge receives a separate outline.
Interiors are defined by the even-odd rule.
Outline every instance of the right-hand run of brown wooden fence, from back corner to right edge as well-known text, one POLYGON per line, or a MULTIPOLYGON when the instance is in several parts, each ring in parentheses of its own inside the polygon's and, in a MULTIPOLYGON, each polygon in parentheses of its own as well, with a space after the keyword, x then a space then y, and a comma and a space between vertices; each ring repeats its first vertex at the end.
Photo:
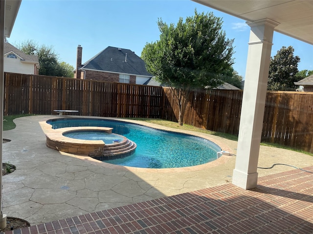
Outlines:
MULTIPOLYGON (((165 90, 165 94, 177 117, 178 107, 170 91, 165 90)), ((237 90, 197 91, 188 100, 183 122, 238 136, 242 97, 243 92, 237 90)), ((268 91, 262 141, 313 153, 313 92, 268 91)))

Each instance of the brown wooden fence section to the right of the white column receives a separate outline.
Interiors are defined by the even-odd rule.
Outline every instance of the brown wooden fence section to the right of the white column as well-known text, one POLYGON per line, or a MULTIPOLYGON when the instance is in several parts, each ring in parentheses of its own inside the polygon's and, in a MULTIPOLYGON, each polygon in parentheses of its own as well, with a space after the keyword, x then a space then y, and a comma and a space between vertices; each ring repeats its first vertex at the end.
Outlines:
POLYGON ((313 153, 313 92, 268 92, 262 140, 313 153))

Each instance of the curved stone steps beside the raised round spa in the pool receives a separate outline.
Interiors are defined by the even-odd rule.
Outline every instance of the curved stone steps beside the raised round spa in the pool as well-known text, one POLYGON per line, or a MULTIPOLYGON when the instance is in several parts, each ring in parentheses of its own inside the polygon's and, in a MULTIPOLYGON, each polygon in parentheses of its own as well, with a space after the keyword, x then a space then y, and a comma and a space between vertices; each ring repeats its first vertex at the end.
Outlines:
POLYGON ((134 141, 126 138, 126 140, 118 143, 106 144, 104 146, 102 156, 96 156, 94 158, 98 160, 108 160, 129 156, 134 153, 136 147, 137 145, 134 143, 134 141))

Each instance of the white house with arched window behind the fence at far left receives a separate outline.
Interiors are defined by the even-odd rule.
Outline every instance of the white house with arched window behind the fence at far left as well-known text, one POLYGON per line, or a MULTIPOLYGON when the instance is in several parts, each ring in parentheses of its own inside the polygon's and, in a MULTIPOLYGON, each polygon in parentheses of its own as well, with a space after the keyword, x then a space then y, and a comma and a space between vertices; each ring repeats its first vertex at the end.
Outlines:
POLYGON ((37 55, 26 55, 7 41, 4 41, 3 50, 4 72, 27 75, 39 74, 39 61, 37 55))

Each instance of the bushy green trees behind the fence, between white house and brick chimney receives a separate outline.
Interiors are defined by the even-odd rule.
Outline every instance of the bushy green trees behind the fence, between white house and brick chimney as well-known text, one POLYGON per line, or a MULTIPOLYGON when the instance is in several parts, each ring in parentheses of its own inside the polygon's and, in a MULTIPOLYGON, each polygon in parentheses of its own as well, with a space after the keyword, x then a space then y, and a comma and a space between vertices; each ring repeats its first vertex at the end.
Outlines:
POLYGON ((25 40, 15 45, 26 55, 37 55, 39 60, 39 74, 56 77, 74 77, 74 67, 64 61, 59 61, 53 46, 41 45, 34 40, 25 40))

